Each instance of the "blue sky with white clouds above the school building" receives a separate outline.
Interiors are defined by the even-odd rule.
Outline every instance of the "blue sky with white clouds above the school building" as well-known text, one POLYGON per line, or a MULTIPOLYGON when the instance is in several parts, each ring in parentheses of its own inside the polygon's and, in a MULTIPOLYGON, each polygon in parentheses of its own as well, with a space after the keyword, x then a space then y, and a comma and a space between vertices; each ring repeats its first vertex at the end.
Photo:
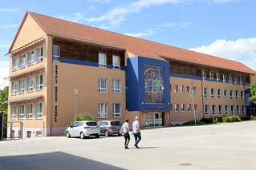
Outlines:
POLYGON ((255 0, 9 0, 0 2, 0 89, 26 11, 240 61, 256 70, 255 0))

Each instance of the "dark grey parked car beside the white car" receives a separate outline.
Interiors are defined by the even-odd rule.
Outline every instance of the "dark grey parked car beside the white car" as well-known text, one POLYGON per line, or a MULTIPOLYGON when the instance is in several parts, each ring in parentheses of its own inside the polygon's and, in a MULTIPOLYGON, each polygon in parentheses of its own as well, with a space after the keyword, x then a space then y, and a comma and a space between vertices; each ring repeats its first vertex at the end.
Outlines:
POLYGON ((100 134, 108 137, 109 135, 117 134, 121 136, 120 128, 122 124, 120 121, 98 121, 100 126, 100 134))

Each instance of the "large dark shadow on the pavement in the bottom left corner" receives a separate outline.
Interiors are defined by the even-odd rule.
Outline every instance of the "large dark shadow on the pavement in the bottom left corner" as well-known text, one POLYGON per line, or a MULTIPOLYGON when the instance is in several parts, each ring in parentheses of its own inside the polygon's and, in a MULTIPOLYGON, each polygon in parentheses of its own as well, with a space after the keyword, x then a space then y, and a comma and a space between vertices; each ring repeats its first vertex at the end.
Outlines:
MULTIPOLYGON (((88 153, 89 154, 89 153, 88 153)), ((88 160, 64 152, 48 152, 33 155, 1 156, 0 169, 123 169, 109 164, 88 160)))

